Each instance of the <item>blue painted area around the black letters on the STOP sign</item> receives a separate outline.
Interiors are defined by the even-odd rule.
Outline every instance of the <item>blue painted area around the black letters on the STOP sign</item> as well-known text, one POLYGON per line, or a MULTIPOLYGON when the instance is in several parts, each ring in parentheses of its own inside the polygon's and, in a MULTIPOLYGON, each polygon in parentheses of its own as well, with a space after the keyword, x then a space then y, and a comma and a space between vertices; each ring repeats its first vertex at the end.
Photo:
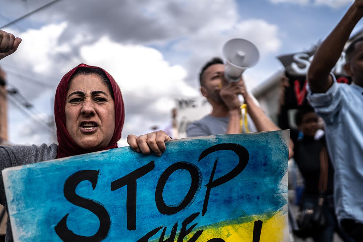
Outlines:
MULTIPOLYGON (((3 171, 9 215, 14 238, 19 241, 61 241, 55 226, 69 214, 66 224, 73 233, 94 235, 100 226, 98 217, 85 208, 70 203, 64 196, 65 181, 81 170, 99 171, 93 189, 90 181, 81 181, 76 194, 102 204, 110 216, 110 229, 103 241, 136 242, 149 231, 167 226, 167 235, 176 221, 183 222, 200 213, 191 223, 195 230, 219 222, 243 223, 250 216, 276 213, 287 204, 288 131, 217 135, 169 141, 162 157, 136 153, 130 147, 78 155, 60 160, 8 168, 3 171), (218 158, 214 180, 237 166, 233 151, 221 150, 198 161, 200 154, 219 143, 237 143, 249 153, 244 170, 232 180, 211 188, 207 212, 201 216, 205 185, 218 158), (127 229, 127 186, 111 191, 111 183, 154 160, 155 168, 137 179, 136 230, 127 229), (201 172, 201 187, 195 200, 173 215, 161 214, 155 204, 155 188, 160 175, 176 162, 189 162, 201 172), (286 176, 285 176, 286 177, 286 176)), ((174 172, 164 187, 166 204, 177 205, 187 194, 191 175, 186 170, 174 172)), ((190 226, 190 225, 188 225, 190 226)), ((178 230, 180 229, 179 226, 178 230)), ((193 230, 193 231, 195 231, 193 230)), ((152 239, 158 239, 160 230, 152 239)), ((223 238, 227 241, 227 238, 223 238)), ((151 240, 150 240, 151 241, 151 240)))

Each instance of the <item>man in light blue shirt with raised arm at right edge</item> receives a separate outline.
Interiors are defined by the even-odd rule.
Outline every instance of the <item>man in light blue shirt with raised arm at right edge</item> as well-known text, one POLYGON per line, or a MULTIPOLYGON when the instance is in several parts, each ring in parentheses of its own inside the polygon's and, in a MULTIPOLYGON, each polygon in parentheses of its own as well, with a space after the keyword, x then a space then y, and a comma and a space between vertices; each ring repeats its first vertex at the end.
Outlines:
POLYGON ((345 70, 353 84, 338 84, 329 73, 362 17, 363 0, 355 0, 316 51, 308 71, 308 99, 325 121, 335 168, 335 213, 355 241, 363 238, 363 38, 352 42, 346 51, 345 70))

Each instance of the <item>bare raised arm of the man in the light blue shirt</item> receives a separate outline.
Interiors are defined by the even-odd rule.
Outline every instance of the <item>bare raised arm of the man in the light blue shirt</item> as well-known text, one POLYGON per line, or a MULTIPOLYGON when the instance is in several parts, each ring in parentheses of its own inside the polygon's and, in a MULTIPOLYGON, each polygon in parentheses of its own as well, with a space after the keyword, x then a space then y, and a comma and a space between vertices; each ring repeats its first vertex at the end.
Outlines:
POLYGON ((311 62, 307 78, 311 91, 324 93, 333 84, 329 75, 337 63, 354 26, 363 16, 363 0, 356 0, 342 20, 321 43, 311 62))

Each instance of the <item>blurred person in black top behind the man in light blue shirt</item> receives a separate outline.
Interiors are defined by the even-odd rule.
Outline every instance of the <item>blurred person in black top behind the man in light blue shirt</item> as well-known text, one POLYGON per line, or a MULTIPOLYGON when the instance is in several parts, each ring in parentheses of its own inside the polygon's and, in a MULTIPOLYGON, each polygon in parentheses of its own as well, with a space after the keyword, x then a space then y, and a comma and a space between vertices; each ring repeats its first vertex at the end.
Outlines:
POLYGON ((294 140, 294 159, 305 180, 305 189, 302 195, 301 210, 314 208, 321 196, 324 196, 323 211, 327 221, 324 229, 317 229, 313 235, 314 242, 332 242, 334 232, 337 232, 345 242, 352 242, 338 225, 334 212, 333 177, 334 169, 327 156, 327 182, 324 194, 321 194, 319 185, 324 175, 320 153, 326 147, 325 136, 315 135, 319 129, 318 115, 313 108, 298 110, 295 114, 295 122, 302 135, 294 140))

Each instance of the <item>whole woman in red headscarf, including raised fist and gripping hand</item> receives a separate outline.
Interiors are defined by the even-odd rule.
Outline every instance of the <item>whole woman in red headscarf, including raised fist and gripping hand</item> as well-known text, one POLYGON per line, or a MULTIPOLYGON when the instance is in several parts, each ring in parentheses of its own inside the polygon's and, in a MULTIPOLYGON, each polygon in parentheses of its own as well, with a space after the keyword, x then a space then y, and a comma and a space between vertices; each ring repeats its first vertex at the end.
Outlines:
MULTIPOLYGON (((14 53, 20 42, 20 38, 0 30, 0 59, 14 53)), ((58 145, 0 146, 0 170, 116 148, 125 120, 120 88, 102 68, 79 64, 63 76, 57 87, 54 116, 58 145)), ((163 131, 127 138, 135 151, 153 151, 157 155, 165 151, 164 141, 169 139, 163 131)), ((0 204, 6 208, 1 174, 0 204)), ((13 241, 9 220, 5 241, 13 241)))

